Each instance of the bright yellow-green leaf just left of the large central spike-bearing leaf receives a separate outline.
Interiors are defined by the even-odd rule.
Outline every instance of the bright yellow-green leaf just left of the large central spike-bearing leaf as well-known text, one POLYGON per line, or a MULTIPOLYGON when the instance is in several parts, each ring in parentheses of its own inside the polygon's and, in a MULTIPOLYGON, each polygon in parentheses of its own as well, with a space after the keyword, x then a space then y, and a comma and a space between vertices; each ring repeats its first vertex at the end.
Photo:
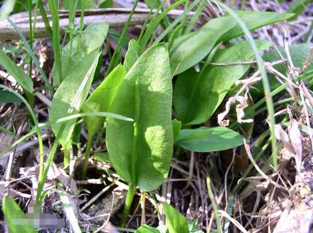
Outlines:
MULTIPOLYGON (((123 65, 118 65, 104 81, 96 88, 81 106, 82 112, 110 112, 117 91, 126 75, 123 65)), ((88 134, 94 134, 103 125, 105 117, 85 116, 84 122, 88 127, 88 134)))

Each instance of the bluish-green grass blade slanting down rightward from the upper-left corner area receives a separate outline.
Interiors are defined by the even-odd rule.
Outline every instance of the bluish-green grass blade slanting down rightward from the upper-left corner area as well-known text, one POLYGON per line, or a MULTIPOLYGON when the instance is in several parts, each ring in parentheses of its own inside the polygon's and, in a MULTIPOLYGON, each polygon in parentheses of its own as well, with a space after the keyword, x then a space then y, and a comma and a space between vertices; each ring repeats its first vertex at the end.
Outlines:
POLYGON ((10 19, 10 17, 7 18, 7 20, 11 23, 11 25, 15 28, 15 30, 18 32, 18 34, 20 35, 20 39, 22 40, 22 42, 25 45, 25 48, 28 52, 28 54, 32 57, 34 63, 36 64, 40 75, 42 76, 42 79, 45 83, 45 85, 47 86, 50 94, 53 96, 54 95, 54 89, 53 86, 49 83, 46 74, 43 72, 42 68, 40 67, 40 63, 38 58, 35 56, 33 50, 31 49, 29 43, 27 42, 27 40, 25 39, 24 35, 22 34, 22 32, 20 31, 20 29, 18 28, 18 26, 10 19))

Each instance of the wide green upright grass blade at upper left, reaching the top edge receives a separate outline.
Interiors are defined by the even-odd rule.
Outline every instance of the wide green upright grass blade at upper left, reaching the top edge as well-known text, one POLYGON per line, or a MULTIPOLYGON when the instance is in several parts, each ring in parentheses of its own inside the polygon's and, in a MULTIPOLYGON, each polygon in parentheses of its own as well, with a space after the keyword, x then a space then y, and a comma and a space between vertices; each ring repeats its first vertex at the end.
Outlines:
POLYGON ((59 7, 56 0, 48 0, 50 12, 52 15, 52 44, 56 68, 59 76, 59 83, 62 83, 62 65, 60 57, 60 25, 59 25, 59 7))

